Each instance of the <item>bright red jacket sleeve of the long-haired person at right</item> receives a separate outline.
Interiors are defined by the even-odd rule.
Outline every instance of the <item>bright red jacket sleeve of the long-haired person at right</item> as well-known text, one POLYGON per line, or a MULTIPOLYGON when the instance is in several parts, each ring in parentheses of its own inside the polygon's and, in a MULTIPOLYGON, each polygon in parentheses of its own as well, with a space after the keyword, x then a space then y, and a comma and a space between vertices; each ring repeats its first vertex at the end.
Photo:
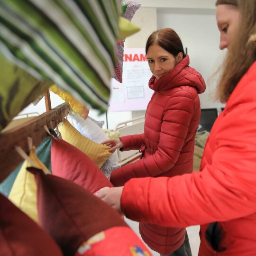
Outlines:
POLYGON ((256 99, 240 102, 223 117, 214 138, 212 162, 202 172, 126 183, 121 196, 125 215, 142 222, 186 227, 255 213, 255 115, 256 99))

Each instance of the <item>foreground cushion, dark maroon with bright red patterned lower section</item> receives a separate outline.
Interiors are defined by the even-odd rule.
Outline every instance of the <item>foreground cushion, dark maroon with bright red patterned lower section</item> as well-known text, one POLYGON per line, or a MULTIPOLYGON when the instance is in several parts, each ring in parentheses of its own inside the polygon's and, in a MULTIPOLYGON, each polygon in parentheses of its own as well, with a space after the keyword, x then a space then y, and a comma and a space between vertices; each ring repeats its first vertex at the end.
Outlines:
MULTIPOLYGON (((102 234, 99 235, 102 231, 105 239, 98 245, 99 252, 105 246, 105 256, 131 256, 130 248, 135 246, 148 252, 119 213, 101 199, 71 181, 46 175, 33 167, 28 170, 35 174, 37 182, 39 225, 54 238, 64 256, 75 255, 78 250, 81 255, 90 238, 92 241, 92 237, 98 235, 94 239, 102 239, 102 234), (115 238, 125 241, 124 245, 115 238)), ((84 255, 101 255, 95 252, 89 250, 84 255)))

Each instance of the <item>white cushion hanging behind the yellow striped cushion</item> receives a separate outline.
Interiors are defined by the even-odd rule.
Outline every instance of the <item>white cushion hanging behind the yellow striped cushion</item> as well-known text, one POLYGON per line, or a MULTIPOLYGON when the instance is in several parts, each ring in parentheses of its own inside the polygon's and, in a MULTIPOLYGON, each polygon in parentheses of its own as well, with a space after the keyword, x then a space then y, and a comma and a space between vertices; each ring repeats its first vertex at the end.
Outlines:
MULTIPOLYGON (((91 119, 82 119, 79 115, 70 113, 67 116, 67 120, 74 128, 76 128, 84 137, 91 139, 96 143, 101 143, 104 140, 109 139, 106 133, 97 126, 91 119)), ((114 164, 118 163, 118 155, 117 152, 114 152, 110 155, 110 161, 114 164)))

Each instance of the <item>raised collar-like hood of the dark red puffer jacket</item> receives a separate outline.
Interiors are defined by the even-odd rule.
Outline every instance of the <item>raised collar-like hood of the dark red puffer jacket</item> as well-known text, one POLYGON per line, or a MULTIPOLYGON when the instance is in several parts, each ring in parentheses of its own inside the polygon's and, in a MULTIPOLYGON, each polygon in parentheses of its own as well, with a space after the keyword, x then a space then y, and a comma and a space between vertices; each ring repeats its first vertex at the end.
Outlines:
POLYGON ((154 91, 165 91, 182 85, 196 88, 198 93, 206 89, 205 82, 199 72, 189 66, 189 55, 186 55, 169 73, 159 80, 153 75, 148 83, 154 91))

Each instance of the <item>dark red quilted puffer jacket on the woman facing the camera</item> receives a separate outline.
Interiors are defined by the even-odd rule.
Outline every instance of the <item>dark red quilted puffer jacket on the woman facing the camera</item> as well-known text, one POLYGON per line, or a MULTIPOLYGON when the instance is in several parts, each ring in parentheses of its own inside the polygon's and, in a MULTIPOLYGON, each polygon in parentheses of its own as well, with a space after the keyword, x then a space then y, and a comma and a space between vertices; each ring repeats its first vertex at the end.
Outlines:
MULTIPOLYGON (((205 90, 201 74, 188 66, 186 55, 168 74, 149 86, 154 90, 148 103, 144 134, 121 137, 123 150, 145 148, 144 158, 113 171, 114 186, 134 177, 158 177, 192 172, 194 139, 201 109, 198 93, 205 90)), ((161 254, 181 247, 185 229, 140 224, 146 244, 161 254)))

